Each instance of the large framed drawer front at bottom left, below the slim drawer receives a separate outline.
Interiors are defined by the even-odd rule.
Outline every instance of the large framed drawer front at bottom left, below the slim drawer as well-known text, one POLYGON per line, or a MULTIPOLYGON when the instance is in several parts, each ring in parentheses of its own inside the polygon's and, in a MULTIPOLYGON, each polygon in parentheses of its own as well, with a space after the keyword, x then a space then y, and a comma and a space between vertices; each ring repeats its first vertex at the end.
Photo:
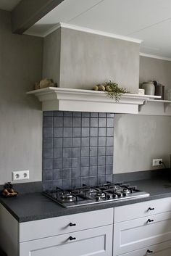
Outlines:
POLYGON ((112 225, 20 243, 20 256, 57 255, 112 256, 112 225))

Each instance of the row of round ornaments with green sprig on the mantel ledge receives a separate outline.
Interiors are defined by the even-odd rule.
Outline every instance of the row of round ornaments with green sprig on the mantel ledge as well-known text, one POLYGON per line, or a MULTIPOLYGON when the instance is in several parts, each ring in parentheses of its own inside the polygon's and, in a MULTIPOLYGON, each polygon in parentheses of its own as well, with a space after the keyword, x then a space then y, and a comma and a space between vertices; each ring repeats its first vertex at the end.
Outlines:
POLYGON ((109 98, 115 99, 115 102, 119 102, 122 94, 127 93, 125 88, 118 86, 118 84, 112 82, 112 80, 109 80, 109 82, 94 86, 93 90, 104 91, 109 98))

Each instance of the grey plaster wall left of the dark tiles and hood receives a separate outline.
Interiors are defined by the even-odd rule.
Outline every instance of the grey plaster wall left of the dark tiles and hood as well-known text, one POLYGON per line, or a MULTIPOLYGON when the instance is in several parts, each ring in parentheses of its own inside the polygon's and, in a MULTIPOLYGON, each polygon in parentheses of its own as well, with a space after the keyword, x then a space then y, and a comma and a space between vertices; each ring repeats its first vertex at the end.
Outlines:
POLYGON ((41 181, 41 104, 26 91, 41 79, 43 40, 11 32, 10 12, 0 10, 0 184, 12 170, 30 170, 41 181))

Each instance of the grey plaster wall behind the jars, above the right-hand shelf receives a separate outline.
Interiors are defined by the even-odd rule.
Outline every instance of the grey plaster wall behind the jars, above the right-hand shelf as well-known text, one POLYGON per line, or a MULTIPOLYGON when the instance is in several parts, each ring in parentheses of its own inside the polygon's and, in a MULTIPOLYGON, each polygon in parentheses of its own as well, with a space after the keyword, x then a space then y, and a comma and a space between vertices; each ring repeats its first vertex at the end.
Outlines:
POLYGON ((149 57, 140 57, 140 82, 148 80, 157 80, 165 86, 165 97, 167 99, 167 90, 171 88, 171 62, 154 59, 149 57))

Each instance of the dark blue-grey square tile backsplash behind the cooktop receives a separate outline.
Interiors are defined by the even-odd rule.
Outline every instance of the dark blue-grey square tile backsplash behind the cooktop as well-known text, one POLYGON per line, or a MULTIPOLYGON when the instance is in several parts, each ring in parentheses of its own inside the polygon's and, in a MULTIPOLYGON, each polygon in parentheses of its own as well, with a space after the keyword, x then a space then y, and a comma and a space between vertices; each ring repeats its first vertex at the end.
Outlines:
POLYGON ((114 114, 43 112, 43 189, 112 181, 114 114))

